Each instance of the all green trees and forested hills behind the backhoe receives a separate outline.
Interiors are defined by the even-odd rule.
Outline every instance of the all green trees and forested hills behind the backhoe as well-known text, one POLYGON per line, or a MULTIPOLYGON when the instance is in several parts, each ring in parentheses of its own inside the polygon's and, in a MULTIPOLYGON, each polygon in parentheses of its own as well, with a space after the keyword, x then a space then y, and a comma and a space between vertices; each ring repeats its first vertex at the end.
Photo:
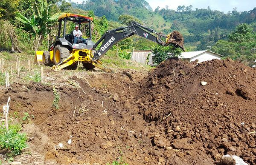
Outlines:
MULTIPOLYGON (((180 31, 186 51, 212 48, 224 57, 249 61, 254 61, 256 56, 253 51, 256 48, 256 7, 242 12, 235 8, 228 13, 193 6, 178 6, 177 10, 166 6, 153 11, 145 0, 87 0, 81 4, 65 0, 2 0, 0 49, 17 51, 19 47, 31 54, 36 49, 47 49, 55 39, 55 20, 61 12, 94 17, 94 41, 107 29, 126 26, 130 20, 136 20, 157 32, 180 31)), ((133 49, 152 49, 153 45, 141 37, 130 37, 111 50, 129 59, 133 49)))

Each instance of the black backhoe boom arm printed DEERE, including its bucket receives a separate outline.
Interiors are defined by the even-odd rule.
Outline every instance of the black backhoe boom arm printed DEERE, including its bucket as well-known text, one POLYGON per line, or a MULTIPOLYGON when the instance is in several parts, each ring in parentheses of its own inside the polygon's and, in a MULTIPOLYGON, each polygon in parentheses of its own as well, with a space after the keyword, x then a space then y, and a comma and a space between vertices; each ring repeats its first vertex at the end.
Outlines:
MULTIPOLYGON (((180 34, 179 32, 177 33, 180 34)), ((177 42, 173 43, 175 38, 173 37, 172 33, 166 36, 163 33, 156 33, 151 28, 144 27, 135 21, 131 21, 127 27, 119 27, 111 31, 108 30, 105 34, 102 35, 102 37, 93 46, 93 48, 96 48, 102 42, 99 50, 93 54, 93 61, 99 60, 113 45, 121 40, 124 40, 125 38, 131 37, 134 34, 137 34, 140 37, 151 40, 162 46, 168 46, 169 43, 172 43, 175 44, 175 46, 179 46, 183 49, 183 37, 181 34, 182 44, 177 44, 177 42), (153 34, 157 35, 157 37, 153 34), (162 41, 162 37, 166 38, 166 40, 162 41)))

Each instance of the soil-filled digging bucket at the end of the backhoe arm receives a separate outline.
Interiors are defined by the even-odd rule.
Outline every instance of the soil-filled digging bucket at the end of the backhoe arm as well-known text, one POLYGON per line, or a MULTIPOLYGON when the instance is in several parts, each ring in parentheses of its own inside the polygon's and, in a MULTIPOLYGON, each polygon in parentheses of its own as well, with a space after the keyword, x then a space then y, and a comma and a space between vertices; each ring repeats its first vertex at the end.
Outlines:
POLYGON ((184 38, 182 34, 178 31, 172 31, 172 33, 168 34, 166 39, 165 46, 168 46, 170 43, 173 44, 175 47, 180 47, 183 51, 184 49, 184 38))

